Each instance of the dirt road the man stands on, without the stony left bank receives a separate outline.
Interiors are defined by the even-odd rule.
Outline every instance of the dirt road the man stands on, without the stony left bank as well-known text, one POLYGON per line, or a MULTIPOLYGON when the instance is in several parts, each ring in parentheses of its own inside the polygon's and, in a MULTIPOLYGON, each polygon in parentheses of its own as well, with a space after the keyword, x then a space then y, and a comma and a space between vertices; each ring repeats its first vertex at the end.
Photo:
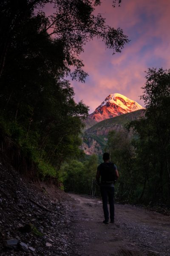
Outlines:
POLYGON ((78 254, 74 256, 170 256, 170 216, 115 205, 115 224, 103 224, 102 202, 74 198, 78 254))

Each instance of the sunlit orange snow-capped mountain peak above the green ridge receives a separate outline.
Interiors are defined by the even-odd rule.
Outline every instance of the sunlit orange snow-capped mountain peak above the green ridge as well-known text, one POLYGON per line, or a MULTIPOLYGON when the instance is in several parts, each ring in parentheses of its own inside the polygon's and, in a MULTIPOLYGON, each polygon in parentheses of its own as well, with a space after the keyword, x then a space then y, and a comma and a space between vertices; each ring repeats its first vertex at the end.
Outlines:
POLYGON ((144 109, 137 102, 128 99, 126 96, 114 93, 110 94, 99 107, 91 113, 88 118, 100 122, 104 119, 119 116, 121 114, 144 109))

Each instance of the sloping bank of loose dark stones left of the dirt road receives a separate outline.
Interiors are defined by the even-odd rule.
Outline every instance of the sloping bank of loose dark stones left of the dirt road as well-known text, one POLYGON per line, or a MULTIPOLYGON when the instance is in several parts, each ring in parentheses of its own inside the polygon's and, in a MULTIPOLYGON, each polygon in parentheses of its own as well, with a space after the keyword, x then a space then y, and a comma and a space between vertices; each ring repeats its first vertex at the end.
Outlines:
POLYGON ((0 256, 75 255, 72 201, 0 163, 0 256))

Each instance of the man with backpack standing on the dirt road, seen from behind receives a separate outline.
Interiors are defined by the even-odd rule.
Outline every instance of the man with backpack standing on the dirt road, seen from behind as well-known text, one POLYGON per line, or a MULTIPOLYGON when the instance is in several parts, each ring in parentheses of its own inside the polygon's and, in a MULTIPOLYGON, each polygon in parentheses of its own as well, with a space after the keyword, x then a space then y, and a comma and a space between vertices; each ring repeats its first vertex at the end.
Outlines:
POLYGON ((103 221, 103 223, 105 224, 109 223, 108 201, 110 205, 111 223, 114 223, 114 183, 119 177, 116 165, 114 163, 111 163, 109 159, 109 153, 104 153, 104 163, 101 163, 97 167, 96 174, 96 180, 98 185, 100 186, 100 191, 102 195, 103 212, 105 216, 105 220, 103 221))

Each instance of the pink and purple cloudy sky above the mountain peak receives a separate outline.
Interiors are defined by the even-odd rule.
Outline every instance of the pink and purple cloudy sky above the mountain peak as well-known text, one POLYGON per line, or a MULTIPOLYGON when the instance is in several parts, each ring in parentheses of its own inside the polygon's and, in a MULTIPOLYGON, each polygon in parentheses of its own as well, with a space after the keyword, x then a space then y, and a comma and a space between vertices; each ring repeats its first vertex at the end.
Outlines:
POLYGON ((92 113, 109 94, 121 93, 144 106, 144 71, 170 68, 170 0, 122 0, 116 8, 105 0, 96 11, 108 25, 122 28, 130 43, 116 55, 98 40, 85 45, 80 58, 89 76, 85 83, 71 81, 75 101, 83 100, 92 113))

